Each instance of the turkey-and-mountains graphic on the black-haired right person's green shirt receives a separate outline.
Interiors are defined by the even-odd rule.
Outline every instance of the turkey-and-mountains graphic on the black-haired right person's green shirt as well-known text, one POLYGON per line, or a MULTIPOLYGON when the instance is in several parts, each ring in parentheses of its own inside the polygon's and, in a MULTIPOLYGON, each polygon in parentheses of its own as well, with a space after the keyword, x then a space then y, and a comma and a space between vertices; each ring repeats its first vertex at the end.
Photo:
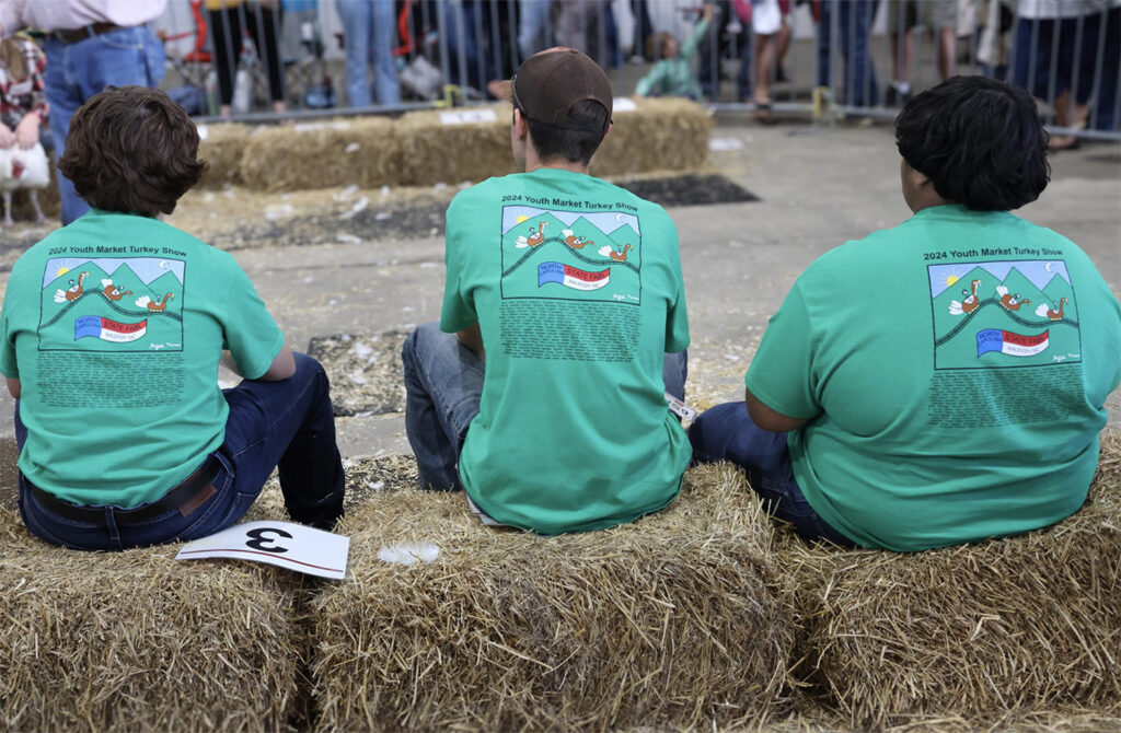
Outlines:
POLYGON ((935 369, 1082 361, 1064 260, 929 265, 935 369))

